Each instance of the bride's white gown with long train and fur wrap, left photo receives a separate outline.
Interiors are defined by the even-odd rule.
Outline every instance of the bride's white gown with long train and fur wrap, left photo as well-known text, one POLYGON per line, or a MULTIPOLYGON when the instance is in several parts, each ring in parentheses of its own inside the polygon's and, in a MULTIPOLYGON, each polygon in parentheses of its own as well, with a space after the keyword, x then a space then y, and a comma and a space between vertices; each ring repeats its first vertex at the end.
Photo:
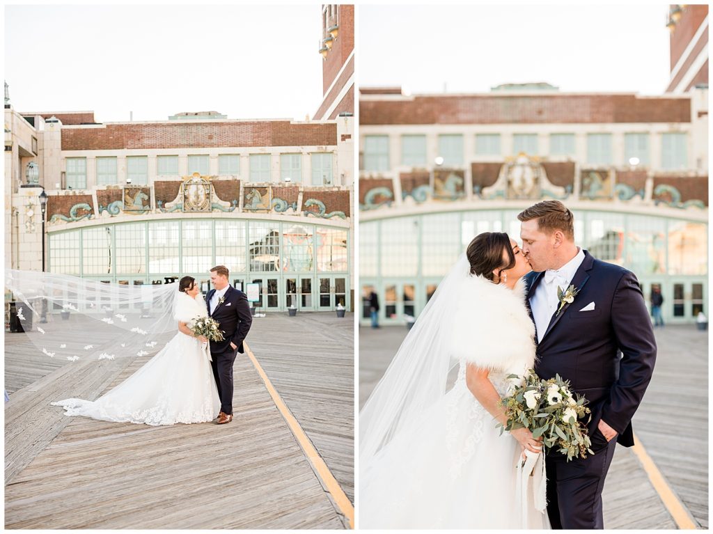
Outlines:
MULTIPOLYGON (((179 292, 175 319, 191 327, 207 310, 202 294, 196 299, 179 292)), ((51 403, 64 406, 68 416, 86 416, 118 423, 152 426, 203 423, 215 419, 220 399, 210 367, 210 352, 183 332, 138 371, 96 401, 66 399, 51 403)))

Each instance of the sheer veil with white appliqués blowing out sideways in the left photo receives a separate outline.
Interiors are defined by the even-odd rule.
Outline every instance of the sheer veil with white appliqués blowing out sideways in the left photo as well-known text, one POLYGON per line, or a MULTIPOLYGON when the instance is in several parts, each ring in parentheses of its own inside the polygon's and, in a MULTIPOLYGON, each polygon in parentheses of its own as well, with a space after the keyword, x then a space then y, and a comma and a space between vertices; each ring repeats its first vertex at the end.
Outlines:
POLYGON ((178 284, 125 285, 67 274, 6 269, 22 330, 48 358, 145 356, 178 329, 178 284))

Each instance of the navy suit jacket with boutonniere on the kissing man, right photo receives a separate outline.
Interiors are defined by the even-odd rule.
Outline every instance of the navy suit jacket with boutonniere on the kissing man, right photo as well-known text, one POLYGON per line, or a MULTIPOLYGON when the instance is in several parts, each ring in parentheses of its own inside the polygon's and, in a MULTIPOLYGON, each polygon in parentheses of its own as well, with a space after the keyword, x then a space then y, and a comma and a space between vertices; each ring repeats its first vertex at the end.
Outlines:
MULTIPOLYGON (((528 304, 542 279, 542 272, 525 275, 528 304)), ((656 339, 644 297, 634 273, 596 260, 586 250, 571 284, 579 293, 550 320, 537 347, 535 372, 543 379, 559 374, 590 401, 588 427, 594 451, 606 443, 597 430, 600 419, 617 431, 618 443, 630 447, 634 444, 631 419, 656 360, 656 339), (581 312, 590 302, 595 309, 581 312)))

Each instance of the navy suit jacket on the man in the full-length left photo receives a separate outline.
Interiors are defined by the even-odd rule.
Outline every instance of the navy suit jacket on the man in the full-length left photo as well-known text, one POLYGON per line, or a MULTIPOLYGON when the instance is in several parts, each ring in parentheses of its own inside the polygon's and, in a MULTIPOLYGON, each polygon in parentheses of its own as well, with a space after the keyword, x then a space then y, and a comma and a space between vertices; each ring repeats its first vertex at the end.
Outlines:
POLYGON ((250 313, 250 304, 247 302, 245 293, 235 287, 228 286, 222 304, 217 304, 212 314, 210 313, 210 299, 215 293, 215 289, 211 289, 205 295, 205 306, 208 309, 210 317, 220 323, 220 329, 223 331, 222 342, 210 342, 210 351, 216 354, 220 352, 232 351, 230 342, 237 346, 237 351, 242 353, 245 351, 242 342, 247 336, 252 324, 252 314, 250 313))

